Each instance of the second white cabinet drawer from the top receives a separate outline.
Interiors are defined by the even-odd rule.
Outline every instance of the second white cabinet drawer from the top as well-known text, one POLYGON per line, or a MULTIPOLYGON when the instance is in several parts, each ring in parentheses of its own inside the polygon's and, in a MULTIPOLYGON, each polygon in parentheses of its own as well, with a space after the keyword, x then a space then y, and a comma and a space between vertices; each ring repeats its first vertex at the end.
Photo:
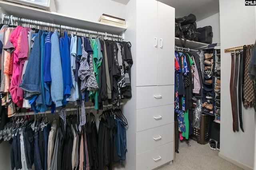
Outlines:
POLYGON ((136 132, 174 122, 174 105, 138 109, 136 111, 136 132))

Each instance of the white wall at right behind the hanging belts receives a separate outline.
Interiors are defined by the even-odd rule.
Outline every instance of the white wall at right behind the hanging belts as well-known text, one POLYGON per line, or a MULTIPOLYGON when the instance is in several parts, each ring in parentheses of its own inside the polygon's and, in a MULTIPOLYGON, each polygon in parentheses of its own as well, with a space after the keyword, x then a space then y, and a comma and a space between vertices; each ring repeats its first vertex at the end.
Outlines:
POLYGON ((241 0, 220 0, 221 124, 219 156, 244 169, 254 164, 254 109, 242 109, 244 132, 233 132, 230 101, 230 53, 224 49, 253 44, 256 39, 255 7, 241 0), (246 23, 246 25, 242 24, 246 23))

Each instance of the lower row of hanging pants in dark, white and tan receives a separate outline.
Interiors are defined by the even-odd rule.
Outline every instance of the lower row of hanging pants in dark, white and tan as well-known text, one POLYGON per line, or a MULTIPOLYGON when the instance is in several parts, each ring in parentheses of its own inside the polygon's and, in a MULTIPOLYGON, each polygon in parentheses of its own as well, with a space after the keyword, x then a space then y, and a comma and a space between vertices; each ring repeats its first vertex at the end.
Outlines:
POLYGON ((66 125, 62 117, 51 124, 45 116, 7 124, 14 128, 5 134, 13 136, 8 139, 12 141, 12 169, 31 169, 34 164, 35 170, 98 170, 112 169, 113 162, 123 164, 128 122, 122 111, 103 111, 98 131, 94 114, 86 116, 88 122, 81 130, 76 112, 66 116, 66 125))

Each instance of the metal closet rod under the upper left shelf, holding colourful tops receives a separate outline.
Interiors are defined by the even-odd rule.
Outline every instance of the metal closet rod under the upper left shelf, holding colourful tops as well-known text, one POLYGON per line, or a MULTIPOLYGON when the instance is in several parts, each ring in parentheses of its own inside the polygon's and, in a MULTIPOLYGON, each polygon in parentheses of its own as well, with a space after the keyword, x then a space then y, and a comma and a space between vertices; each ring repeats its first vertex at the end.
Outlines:
POLYGON ((24 24, 34 24, 34 25, 40 25, 40 26, 45 26, 45 27, 51 27, 51 28, 58 28, 58 29, 66 29, 70 31, 76 31, 76 32, 83 32, 83 33, 88 33, 88 34, 97 34, 97 35, 102 35, 102 36, 108 36, 110 38, 119 38, 123 40, 123 36, 119 36, 116 34, 108 34, 107 32, 97 32, 97 31, 92 31, 92 30, 85 30, 82 28, 75 28, 75 27, 70 27, 70 26, 63 26, 59 24, 53 24, 53 23, 48 23, 48 22, 42 22, 42 21, 36 21, 36 20, 30 20, 26 18, 20 18, 20 17, 14 17, 14 16, 8 16, 6 14, 2 14, 2 24, 4 24, 4 20, 7 22, 9 21, 11 24, 14 22, 22 22, 24 24))

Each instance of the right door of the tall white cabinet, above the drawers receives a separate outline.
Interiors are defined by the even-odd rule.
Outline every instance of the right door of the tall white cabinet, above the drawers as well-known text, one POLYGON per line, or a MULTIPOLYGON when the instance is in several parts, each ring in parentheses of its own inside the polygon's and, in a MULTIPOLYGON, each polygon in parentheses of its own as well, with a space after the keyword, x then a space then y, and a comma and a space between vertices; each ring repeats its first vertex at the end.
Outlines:
POLYGON ((174 85, 175 8, 158 2, 158 85, 174 85))

